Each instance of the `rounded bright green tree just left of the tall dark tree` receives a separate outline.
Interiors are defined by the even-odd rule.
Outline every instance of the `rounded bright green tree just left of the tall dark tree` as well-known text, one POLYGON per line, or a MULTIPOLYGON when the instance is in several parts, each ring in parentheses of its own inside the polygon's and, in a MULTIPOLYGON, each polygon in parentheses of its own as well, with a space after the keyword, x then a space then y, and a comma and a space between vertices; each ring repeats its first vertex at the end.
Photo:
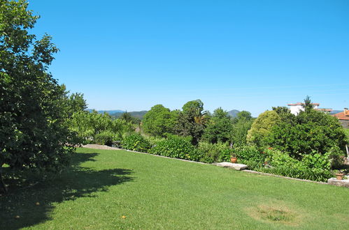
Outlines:
POLYGON ((171 112, 163 105, 155 105, 144 115, 143 130, 150 135, 164 137, 166 133, 173 133, 177 119, 178 112, 171 112))

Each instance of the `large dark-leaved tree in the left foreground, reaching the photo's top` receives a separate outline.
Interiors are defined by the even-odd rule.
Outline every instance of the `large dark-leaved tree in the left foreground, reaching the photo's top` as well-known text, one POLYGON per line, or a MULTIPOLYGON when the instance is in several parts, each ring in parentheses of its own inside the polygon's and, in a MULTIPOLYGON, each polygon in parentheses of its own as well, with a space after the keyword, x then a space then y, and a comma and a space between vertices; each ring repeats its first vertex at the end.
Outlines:
POLYGON ((58 49, 47 34, 29 33, 38 16, 27 6, 0 1, 0 169, 60 171, 77 143, 66 91, 48 72, 58 49))

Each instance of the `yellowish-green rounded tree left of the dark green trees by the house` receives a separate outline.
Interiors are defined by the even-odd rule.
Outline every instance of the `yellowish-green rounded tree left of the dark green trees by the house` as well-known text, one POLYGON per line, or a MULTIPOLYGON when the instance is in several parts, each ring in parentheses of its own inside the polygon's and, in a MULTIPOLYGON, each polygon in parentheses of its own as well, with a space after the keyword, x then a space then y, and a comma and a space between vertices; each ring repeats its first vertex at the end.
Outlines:
POLYGON ((275 111, 266 111, 259 114, 248 130, 247 141, 257 146, 265 146, 271 128, 280 121, 280 116, 275 111))

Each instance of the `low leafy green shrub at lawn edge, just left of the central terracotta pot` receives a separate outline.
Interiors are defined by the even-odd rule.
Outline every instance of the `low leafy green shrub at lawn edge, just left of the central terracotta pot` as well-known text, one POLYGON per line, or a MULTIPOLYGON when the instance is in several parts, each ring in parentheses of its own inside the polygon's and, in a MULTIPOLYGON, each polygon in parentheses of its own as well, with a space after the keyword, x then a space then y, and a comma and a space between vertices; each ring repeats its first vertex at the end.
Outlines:
POLYGON ((199 142, 198 151, 202 154, 201 162, 213 163, 229 161, 232 155, 232 148, 227 143, 218 142, 211 144, 199 142))

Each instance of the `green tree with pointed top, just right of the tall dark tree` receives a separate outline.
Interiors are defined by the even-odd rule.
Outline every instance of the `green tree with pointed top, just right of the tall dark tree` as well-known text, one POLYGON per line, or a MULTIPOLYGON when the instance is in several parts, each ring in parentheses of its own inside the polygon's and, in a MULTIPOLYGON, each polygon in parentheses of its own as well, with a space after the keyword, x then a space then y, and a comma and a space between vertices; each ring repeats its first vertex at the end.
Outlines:
POLYGON ((229 141, 233 123, 228 113, 221 108, 215 109, 213 116, 204 130, 202 138, 212 144, 229 141))

